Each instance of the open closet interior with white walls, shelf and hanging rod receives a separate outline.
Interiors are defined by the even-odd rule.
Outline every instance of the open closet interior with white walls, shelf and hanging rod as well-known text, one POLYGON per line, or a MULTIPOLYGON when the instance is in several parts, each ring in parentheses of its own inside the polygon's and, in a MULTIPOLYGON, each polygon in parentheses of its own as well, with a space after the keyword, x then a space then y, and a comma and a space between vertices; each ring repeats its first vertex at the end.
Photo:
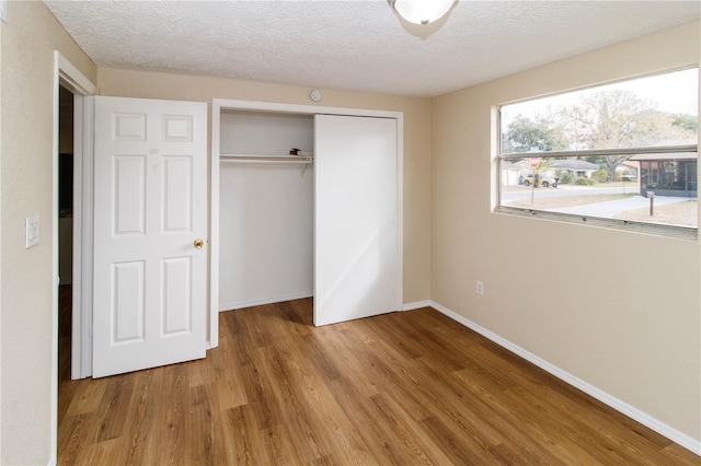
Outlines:
POLYGON ((313 294, 313 131, 308 114, 222 109, 220 311, 313 294))

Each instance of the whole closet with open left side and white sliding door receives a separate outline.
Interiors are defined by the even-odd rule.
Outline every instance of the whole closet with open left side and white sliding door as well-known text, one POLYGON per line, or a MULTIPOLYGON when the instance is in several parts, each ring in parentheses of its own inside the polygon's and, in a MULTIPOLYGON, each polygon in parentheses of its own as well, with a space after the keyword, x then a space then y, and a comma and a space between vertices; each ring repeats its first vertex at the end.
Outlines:
POLYGON ((325 325, 401 310, 403 115, 212 110, 212 312, 314 296, 325 325))

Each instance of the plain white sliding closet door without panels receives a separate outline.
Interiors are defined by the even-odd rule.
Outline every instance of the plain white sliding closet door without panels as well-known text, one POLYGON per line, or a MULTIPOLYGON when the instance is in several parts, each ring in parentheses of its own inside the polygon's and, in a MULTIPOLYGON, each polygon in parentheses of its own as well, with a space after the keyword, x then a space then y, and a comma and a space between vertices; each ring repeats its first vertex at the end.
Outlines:
POLYGON ((397 120, 314 117, 314 325, 398 311, 397 120))

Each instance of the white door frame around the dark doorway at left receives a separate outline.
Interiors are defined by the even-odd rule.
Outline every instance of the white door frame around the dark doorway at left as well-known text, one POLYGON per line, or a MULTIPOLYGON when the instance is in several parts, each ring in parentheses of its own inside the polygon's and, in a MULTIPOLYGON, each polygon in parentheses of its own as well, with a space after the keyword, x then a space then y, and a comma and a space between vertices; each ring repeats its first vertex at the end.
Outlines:
POLYGON ((58 445, 58 116, 59 86, 73 93, 73 273, 72 273, 72 329, 71 377, 81 378, 92 371, 92 125, 91 95, 97 88, 58 50, 54 50, 54 143, 53 143, 53 211, 51 211, 51 273, 53 290, 53 361, 51 361, 51 456, 56 463, 58 445), (76 228, 76 226, 79 228, 76 228), (89 230, 87 230, 87 228, 89 230), (87 326, 88 324, 88 326, 87 326), (85 345, 89 341, 89 345, 85 345), (85 364, 85 361, 89 361, 85 364), (85 372, 88 371, 88 373, 85 372))

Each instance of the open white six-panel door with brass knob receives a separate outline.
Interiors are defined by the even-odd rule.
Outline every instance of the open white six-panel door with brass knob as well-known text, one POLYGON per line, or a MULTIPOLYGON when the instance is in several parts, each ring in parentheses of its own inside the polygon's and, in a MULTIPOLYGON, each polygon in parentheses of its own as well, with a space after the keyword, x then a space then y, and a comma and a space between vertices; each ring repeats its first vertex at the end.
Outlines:
POLYGON ((93 377, 205 357, 206 138, 204 103, 95 97, 93 377))

